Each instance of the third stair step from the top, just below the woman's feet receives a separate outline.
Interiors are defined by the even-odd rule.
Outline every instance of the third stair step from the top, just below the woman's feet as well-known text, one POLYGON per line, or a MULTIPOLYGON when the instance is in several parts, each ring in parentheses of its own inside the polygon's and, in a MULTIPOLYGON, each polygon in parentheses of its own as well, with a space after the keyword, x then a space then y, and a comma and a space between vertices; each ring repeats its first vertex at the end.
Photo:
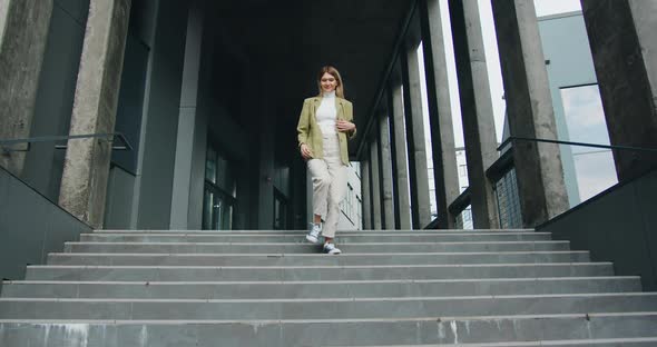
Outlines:
POLYGON ((447 265, 589 261, 588 251, 388 252, 388 254, 50 254, 49 265, 302 266, 447 265))

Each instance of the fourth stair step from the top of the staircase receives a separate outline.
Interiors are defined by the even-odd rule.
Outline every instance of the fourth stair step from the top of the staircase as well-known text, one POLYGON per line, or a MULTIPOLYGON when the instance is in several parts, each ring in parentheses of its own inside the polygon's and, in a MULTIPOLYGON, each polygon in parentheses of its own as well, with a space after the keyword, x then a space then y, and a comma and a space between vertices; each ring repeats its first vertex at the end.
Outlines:
POLYGON ((611 262, 371 266, 28 266, 28 280, 375 280, 611 276, 611 262))

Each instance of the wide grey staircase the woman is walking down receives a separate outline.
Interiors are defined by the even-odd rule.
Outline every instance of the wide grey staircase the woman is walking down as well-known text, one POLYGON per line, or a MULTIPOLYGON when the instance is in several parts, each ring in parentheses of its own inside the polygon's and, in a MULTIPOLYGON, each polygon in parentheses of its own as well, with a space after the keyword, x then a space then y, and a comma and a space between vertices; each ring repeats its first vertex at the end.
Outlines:
POLYGON ((638 277, 532 230, 82 235, 4 281, 2 347, 657 346, 638 277))

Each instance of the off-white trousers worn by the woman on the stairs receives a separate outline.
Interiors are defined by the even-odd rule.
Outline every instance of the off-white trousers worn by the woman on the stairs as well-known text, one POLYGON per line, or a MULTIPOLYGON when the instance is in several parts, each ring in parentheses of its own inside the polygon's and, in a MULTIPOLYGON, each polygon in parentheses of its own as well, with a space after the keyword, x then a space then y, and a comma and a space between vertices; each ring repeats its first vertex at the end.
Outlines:
POLYGON ((322 216, 322 235, 334 238, 340 219, 340 201, 346 192, 346 167, 340 159, 337 132, 322 128, 324 159, 307 161, 313 180, 313 212, 322 216))

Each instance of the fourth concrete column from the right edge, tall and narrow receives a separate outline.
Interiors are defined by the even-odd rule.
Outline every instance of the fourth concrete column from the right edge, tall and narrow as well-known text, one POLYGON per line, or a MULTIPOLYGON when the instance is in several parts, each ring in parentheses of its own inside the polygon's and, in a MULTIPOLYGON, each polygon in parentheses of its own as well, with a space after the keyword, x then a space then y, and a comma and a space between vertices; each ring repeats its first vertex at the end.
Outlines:
POLYGON ((448 229, 454 227, 454 217, 448 211, 448 207, 459 197, 460 189, 450 89, 448 88, 445 41, 439 0, 421 0, 419 6, 431 127, 433 179, 438 205, 438 228, 448 229))

